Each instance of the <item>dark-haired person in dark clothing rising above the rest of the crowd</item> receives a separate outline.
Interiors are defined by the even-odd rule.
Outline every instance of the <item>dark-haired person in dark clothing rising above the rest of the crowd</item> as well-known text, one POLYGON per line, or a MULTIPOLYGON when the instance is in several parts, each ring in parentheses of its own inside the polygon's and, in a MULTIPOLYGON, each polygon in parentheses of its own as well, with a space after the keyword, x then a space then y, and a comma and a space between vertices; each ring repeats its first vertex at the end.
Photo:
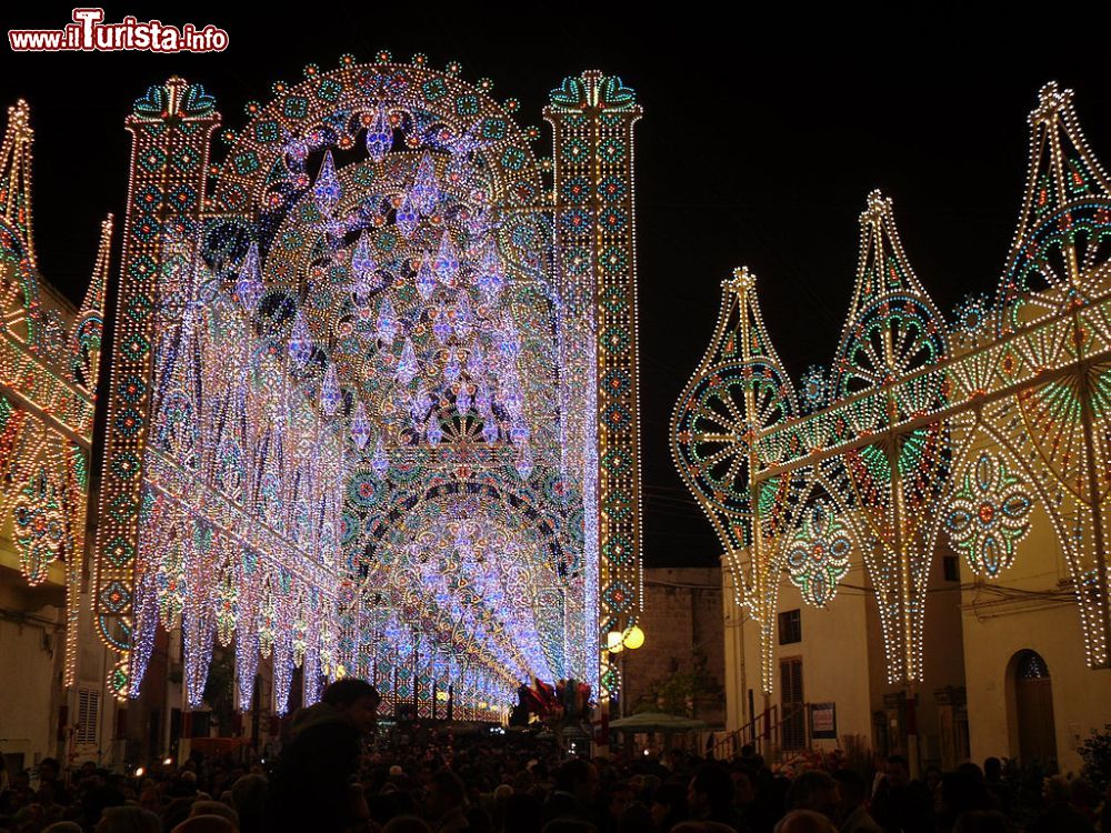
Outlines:
POLYGON ((332 833, 360 821, 352 779, 380 702, 373 685, 347 678, 329 685, 319 703, 293 715, 270 779, 267 830, 332 833))

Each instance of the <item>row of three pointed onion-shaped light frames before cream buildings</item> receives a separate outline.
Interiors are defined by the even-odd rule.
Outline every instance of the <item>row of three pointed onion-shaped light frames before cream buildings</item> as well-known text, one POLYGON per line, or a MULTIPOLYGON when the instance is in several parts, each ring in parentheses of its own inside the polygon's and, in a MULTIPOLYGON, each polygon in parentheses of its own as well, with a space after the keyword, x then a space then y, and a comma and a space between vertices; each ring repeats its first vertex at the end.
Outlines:
POLYGON ((753 278, 739 270, 724 282, 671 443, 730 559, 737 602, 761 624, 768 693, 784 573, 824 605, 860 553, 888 680, 912 684, 937 536, 993 579, 1018 556, 1035 503, 1069 566, 1087 663, 1111 665, 1111 180, 1071 91, 1045 86, 1030 126, 994 303, 972 295, 947 321, 907 261, 891 201, 873 192, 833 364, 809 370, 797 393, 753 278))

